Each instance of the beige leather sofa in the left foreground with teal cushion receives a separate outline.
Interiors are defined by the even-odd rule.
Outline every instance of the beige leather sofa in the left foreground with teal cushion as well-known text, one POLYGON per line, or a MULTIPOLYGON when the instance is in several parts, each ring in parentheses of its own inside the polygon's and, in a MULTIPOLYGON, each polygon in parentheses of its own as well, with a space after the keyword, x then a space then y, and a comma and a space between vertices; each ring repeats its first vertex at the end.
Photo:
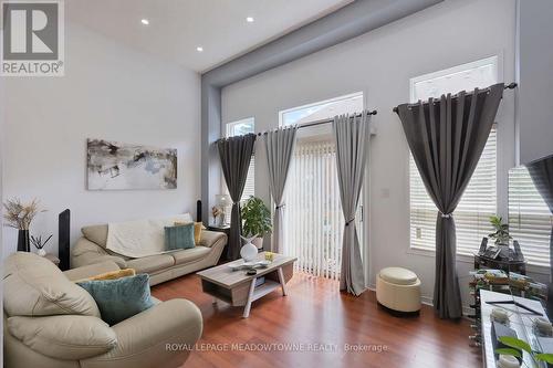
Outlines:
POLYGON ((4 261, 4 367, 179 367, 201 336, 202 318, 186 299, 157 304, 114 326, 71 280, 118 270, 113 262, 62 273, 52 262, 18 252, 4 261))

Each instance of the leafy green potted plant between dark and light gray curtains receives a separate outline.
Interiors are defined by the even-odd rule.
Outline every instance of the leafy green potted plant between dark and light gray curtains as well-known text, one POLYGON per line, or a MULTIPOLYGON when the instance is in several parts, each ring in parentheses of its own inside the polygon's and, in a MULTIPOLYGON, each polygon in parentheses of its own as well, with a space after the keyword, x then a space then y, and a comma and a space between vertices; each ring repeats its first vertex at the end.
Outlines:
POLYGON ((247 236, 255 236, 252 243, 258 248, 263 248, 263 236, 272 231, 271 211, 265 203, 257 197, 250 197, 241 210, 242 230, 247 236))

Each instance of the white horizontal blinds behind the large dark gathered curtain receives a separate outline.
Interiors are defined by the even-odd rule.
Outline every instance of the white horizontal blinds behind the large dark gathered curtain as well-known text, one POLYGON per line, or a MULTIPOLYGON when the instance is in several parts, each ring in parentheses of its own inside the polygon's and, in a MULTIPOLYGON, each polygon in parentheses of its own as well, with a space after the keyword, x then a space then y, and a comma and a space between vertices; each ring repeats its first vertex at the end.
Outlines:
MULTIPOLYGON (((428 196, 413 156, 409 155, 410 244, 414 249, 436 250, 438 209, 428 196)), ((497 211, 497 128, 493 127, 482 157, 453 212, 457 253, 472 255, 483 236, 493 232, 490 217, 497 211)))

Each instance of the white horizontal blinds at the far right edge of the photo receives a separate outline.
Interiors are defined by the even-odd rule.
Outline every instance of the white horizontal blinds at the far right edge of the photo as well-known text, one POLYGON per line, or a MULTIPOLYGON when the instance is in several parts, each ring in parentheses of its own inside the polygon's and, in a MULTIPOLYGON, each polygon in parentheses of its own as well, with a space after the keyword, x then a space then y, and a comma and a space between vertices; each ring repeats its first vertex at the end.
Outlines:
POLYGON ((531 264, 550 265, 553 217, 525 167, 509 170, 509 228, 531 264))

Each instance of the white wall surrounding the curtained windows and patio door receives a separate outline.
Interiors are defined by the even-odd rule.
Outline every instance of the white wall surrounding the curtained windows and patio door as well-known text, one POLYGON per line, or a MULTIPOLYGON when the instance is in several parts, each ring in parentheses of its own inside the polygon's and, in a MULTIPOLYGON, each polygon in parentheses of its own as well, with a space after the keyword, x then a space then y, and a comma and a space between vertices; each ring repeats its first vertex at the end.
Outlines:
MULTIPOLYGON (((434 253, 409 250, 408 147, 392 108, 409 101, 409 78, 491 55, 500 56, 500 80, 514 78, 514 0, 446 1, 334 48, 223 88, 223 124, 255 117, 255 129, 276 127, 279 111, 363 91, 377 136, 371 149, 371 281, 390 265, 414 270, 426 301, 434 291, 434 253), (389 192, 389 196, 387 194, 389 192)), ((499 188, 507 203, 507 170, 514 165, 513 97, 502 103, 499 122, 499 188)), ((225 132, 225 129, 222 129, 225 132)), ((267 168, 257 151, 255 190, 269 202, 267 168)), ((467 285, 470 259, 458 262, 467 285)), ((467 301, 467 291, 463 290, 467 301)))

